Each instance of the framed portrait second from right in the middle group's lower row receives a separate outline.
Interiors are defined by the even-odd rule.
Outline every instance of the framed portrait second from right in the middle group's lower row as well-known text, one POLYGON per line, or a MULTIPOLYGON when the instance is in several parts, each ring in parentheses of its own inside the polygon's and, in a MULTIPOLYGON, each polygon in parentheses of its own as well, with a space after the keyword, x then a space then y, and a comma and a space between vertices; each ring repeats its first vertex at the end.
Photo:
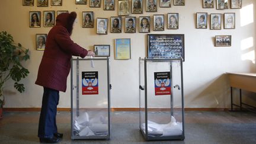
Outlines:
POLYGON ((153 15, 153 31, 164 31, 164 15, 155 14, 153 15))

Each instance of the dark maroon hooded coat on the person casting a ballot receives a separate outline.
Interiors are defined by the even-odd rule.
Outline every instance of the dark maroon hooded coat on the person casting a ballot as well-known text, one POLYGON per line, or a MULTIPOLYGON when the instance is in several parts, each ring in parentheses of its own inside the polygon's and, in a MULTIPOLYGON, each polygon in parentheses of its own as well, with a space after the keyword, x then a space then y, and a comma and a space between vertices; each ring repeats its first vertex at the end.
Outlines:
POLYGON ((75 18, 75 12, 57 16, 56 25, 47 36, 46 48, 37 75, 37 85, 65 92, 72 55, 87 56, 87 50, 74 43, 70 37, 75 18))

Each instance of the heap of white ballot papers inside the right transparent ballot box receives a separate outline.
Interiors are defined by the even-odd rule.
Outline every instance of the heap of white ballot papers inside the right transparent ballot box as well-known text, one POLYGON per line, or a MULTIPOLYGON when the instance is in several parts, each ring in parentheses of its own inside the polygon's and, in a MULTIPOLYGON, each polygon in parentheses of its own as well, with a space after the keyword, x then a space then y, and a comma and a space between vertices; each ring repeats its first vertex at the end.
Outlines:
MULTIPOLYGON (((145 123, 142 124, 142 129, 145 132, 145 123)), ((158 124, 148 120, 149 136, 180 136, 182 133, 182 123, 176 122, 173 116, 171 116, 171 122, 168 124, 158 124)))

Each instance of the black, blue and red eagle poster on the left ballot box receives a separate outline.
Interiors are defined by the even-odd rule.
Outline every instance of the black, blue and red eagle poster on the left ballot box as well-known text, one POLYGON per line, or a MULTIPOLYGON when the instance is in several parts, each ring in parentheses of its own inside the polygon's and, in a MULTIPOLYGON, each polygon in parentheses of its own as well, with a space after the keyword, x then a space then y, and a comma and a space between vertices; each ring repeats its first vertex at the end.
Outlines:
POLYGON ((82 72, 82 95, 98 94, 98 72, 82 72))

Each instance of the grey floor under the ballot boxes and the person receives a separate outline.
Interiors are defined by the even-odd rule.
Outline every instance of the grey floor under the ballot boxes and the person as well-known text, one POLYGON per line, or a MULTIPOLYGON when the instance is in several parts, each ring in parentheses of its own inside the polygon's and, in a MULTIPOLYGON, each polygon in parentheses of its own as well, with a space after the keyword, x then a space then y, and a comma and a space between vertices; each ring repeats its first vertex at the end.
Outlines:
MULTIPOLYGON (((39 143, 39 112, 5 112, 0 143, 39 143)), ((165 114, 163 114, 165 116, 165 114)), ((139 130, 139 113, 111 113, 110 140, 71 140, 71 114, 59 112, 60 143, 256 143, 256 114, 230 111, 185 111, 185 139, 146 142, 139 130)))

